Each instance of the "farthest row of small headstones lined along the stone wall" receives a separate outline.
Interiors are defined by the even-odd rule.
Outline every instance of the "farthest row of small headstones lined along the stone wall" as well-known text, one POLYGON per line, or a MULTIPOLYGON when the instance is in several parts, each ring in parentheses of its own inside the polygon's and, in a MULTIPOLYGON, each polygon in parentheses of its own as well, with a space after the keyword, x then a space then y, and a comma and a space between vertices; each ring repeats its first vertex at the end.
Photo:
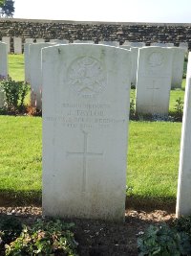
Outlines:
MULTIPOLYGON (((47 40, 46 40, 47 41, 47 40)), ((11 53, 11 37, 9 36, 3 36, 2 37, 2 42, 7 43, 8 45, 8 53, 11 53)), ((25 43, 41 43, 45 42, 45 39, 43 38, 25 38, 25 43)), ((67 39, 50 39, 49 42, 56 42, 56 43, 69 43, 69 40, 67 39)), ((74 40, 74 43, 81 43, 81 42, 86 42, 86 43, 95 43, 94 41, 91 40, 74 40)), ((113 46, 119 46, 119 42, 117 41, 99 41, 99 44, 109 44, 113 46)), ((144 42, 129 42, 125 40, 123 45, 129 45, 132 47, 143 47, 145 46, 144 42)), ((174 43, 158 43, 154 42, 151 43, 151 46, 160 46, 160 47, 173 47, 174 43)), ((186 48, 188 49, 188 44, 186 42, 180 42, 180 47, 181 48, 186 48)), ((21 37, 13 37, 13 53, 14 54, 22 54, 23 52, 23 40, 21 37)))

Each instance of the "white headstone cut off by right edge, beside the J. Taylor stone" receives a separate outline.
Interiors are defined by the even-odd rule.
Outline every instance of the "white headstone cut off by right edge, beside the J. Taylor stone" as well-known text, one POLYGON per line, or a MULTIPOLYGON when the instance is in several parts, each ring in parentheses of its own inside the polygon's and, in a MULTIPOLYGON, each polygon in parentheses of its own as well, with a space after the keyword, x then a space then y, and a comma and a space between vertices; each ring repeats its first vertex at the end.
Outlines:
POLYGON ((188 57, 183 120, 180 142, 180 167, 177 195, 177 217, 191 215, 191 53, 188 57))

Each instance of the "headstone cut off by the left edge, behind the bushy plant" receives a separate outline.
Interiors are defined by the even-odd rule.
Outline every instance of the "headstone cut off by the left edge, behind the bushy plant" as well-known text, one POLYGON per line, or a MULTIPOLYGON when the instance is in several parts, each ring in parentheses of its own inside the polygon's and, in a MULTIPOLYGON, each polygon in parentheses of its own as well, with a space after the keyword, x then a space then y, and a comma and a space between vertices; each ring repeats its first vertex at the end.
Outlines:
MULTIPOLYGON (((8 45, 0 42, 0 80, 8 77, 8 45)), ((5 94, 0 91, 0 107, 4 106, 5 94)))

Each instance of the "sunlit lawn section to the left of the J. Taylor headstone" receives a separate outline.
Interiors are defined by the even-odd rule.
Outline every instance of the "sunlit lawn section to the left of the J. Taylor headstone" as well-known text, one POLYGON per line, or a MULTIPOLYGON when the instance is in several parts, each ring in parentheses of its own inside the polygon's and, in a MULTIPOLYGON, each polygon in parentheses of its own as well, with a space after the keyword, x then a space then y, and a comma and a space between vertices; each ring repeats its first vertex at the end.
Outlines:
POLYGON ((42 173, 41 130, 41 118, 0 116, 2 197, 39 200, 42 173))

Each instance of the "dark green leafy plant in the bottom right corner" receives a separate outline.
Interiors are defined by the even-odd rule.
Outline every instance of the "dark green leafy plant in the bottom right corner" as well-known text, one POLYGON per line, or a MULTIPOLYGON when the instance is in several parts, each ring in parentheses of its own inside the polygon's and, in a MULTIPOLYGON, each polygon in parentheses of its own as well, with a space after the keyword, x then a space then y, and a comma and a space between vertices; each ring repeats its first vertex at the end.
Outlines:
POLYGON ((189 255, 191 244, 184 232, 170 228, 166 223, 150 225, 138 238, 139 256, 189 255))

